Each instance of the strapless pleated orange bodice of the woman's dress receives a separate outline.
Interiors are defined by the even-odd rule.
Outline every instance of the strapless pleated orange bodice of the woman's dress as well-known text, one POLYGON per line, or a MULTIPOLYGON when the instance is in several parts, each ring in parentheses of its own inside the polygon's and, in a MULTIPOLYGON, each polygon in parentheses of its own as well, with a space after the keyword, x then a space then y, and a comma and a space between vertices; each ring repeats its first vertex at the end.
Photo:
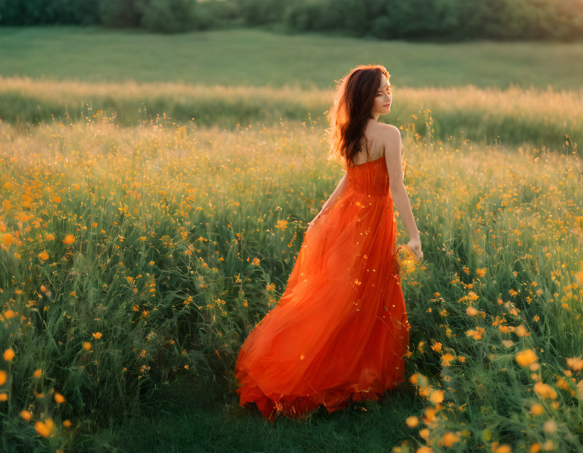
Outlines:
POLYGON ((347 167, 347 189, 370 196, 389 196, 389 172, 385 156, 347 167))

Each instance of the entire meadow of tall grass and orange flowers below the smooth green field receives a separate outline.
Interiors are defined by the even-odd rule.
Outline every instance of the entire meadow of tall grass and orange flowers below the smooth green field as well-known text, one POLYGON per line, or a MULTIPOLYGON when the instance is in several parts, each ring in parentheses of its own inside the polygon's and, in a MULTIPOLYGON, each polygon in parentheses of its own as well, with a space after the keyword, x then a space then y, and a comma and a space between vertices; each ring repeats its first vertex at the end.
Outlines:
POLYGON ((2 70, 3 449, 583 451, 583 165, 564 131, 529 137, 540 122, 568 122, 574 137, 576 93, 395 89, 408 107, 386 121, 401 117, 424 252, 421 264, 401 256, 415 392, 270 426, 238 407, 233 368, 342 176, 312 111, 329 107, 331 91, 2 70), (209 120, 176 121, 181 95, 205 99, 209 120), (78 97, 94 103, 83 111, 78 97), (108 99, 132 121, 97 108, 108 99), (36 100, 43 116, 29 122, 36 100), (78 114, 44 115, 69 100, 78 114), (154 102, 152 116, 131 116, 138 101, 154 102), (245 108, 252 121, 229 115, 245 108), (524 128, 500 122, 484 140, 438 132, 471 112, 494 125, 500 110, 524 128))

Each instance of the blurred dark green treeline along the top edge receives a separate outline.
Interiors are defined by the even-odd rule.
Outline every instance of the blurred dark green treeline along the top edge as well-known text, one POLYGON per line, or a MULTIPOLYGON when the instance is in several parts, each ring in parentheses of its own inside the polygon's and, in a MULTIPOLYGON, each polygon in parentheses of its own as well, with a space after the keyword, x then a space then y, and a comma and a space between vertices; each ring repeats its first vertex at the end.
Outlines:
POLYGON ((280 24, 375 38, 583 38, 581 0, 0 0, 0 24, 100 24, 179 33, 280 24))

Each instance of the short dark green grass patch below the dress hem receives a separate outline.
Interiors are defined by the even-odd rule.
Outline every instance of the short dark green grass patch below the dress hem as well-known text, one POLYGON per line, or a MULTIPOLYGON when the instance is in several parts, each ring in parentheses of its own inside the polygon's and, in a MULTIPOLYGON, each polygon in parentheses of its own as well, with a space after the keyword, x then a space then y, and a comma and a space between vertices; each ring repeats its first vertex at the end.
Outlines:
POLYGON ((405 419, 422 409, 419 398, 395 390, 384 401, 355 403, 331 414, 319 408, 304 422, 279 419, 271 426, 254 407, 203 408, 188 395, 177 395, 139 417, 103 427, 76 447, 96 453, 385 453, 414 434, 405 419))

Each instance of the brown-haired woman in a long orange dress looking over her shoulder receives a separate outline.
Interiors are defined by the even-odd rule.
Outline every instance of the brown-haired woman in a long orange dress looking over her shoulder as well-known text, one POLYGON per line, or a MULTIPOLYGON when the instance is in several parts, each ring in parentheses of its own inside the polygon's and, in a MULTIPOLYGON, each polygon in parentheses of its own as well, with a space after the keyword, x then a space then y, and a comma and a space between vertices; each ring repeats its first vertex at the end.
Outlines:
POLYGON ((271 423, 377 400, 405 381, 410 326, 393 202, 408 246, 417 259, 423 252, 403 185, 401 134, 377 122, 391 111, 389 77, 382 65, 360 65, 340 81, 328 137, 345 175, 310 222, 279 304, 241 346, 240 404, 255 403, 271 423))

